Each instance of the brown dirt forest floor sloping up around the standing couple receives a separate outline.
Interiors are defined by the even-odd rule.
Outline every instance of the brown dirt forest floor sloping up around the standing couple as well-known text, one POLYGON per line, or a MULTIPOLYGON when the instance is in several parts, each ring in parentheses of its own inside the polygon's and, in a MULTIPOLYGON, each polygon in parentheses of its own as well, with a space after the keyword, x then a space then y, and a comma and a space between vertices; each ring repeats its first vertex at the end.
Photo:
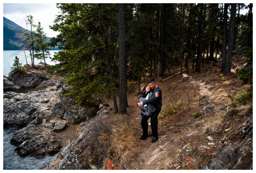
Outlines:
MULTIPOLYGON (((142 129, 140 126, 140 109, 138 102, 138 87, 136 82, 128 82, 128 107, 127 115, 122 115, 131 129, 129 137, 126 138, 127 148, 125 154, 121 156, 117 166, 119 169, 128 170, 160 170, 160 169, 201 169, 202 166, 212 159, 227 142, 233 146, 240 144, 240 137, 237 135, 239 126, 246 121, 248 107, 239 109, 238 114, 228 116, 228 104, 231 103, 232 96, 236 91, 246 89, 236 76, 236 69, 243 64, 234 59, 234 68, 227 76, 220 73, 221 62, 218 67, 213 67, 213 63, 204 64, 201 73, 190 69, 189 73, 183 72, 164 82, 161 80, 171 76, 165 71, 164 76, 153 78, 156 84, 162 89, 163 107, 159 114, 166 110, 167 103, 170 104, 183 99, 188 104, 180 108, 179 111, 168 118, 158 120, 159 139, 151 143, 153 137, 140 140, 142 129), (184 77, 190 78, 183 81, 184 77), (206 106, 214 104, 216 107, 209 112, 205 111, 206 106), (204 116, 193 117, 197 112, 206 112, 204 116)), ((241 62, 240 62, 241 61, 241 62)), ((180 68, 171 68, 172 75, 180 72, 180 68)), ((142 79, 143 86, 149 78, 142 79)), ((113 106, 111 99, 103 100, 104 103, 113 106)), ((119 107, 119 100, 117 98, 119 107)), ((113 110, 113 109, 112 109, 113 110)), ((150 119, 148 120, 148 123, 150 119)), ((76 138, 79 131, 77 125, 70 125, 63 133, 56 134, 56 138, 65 145, 71 138, 76 138)), ((148 126, 148 133, 151 127, 148 126)), ((58 169, 58 162, 53 161, 46 169, 58 169)))

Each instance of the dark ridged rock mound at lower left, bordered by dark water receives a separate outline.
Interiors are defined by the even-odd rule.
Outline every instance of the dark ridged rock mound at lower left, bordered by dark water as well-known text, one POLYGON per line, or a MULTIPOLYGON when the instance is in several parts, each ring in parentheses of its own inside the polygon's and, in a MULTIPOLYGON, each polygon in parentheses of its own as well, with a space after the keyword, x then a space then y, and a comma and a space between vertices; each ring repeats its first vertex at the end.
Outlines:
POLYGON ((17 130, 11 139, 11 143, 17 146, 15 151, 20 156, 30 155, 37 158, 59 152, 61 145, 50 126, 49 123, 42 126, 30 123, 25 128, 17 130))

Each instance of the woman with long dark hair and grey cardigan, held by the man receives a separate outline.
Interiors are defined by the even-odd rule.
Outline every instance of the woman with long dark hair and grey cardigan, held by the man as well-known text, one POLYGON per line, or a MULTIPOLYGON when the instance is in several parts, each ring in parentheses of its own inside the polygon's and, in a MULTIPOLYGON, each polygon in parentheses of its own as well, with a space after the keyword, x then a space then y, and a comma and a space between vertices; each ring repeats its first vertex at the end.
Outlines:
MULTIPOLYGON (((155 93, 156 97, 158 97, 158 92, 155 93)), ((148 86, 148 83, 144 85, 141 94, 139 96, 139 102, 138 106, 140 106, 141 111, 141 127, 143 131, 143 135, 140 137, 141 140, 146 139, 148 137, 148 119, 151 116, 152 112, 154 112, 156 109, 152 104, 147 104, 141 106, 140 102, 148 100, 148 98, 154 97, 153 92, 150 91, 150 87, 148 86)))

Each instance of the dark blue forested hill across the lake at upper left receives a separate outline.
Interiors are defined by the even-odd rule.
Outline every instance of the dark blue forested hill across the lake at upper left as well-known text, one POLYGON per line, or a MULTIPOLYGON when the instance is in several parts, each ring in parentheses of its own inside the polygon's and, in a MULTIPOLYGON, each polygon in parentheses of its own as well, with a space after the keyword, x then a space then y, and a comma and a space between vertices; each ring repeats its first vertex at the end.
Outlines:
MULTIPOLYGON (((12 45, 10 40, 16 41, 15 33, 23 33, 24 28, 20 27, 13 21, 4 17, 4 29, 3 29, 3 42, 4 42, 4 51, 17 51, 20 50, 18 46, 12 45)), ((49 41, 51 38, 46 37, 46 40, 49 41)), ((55 49, 56 50, 56 49, 55 49)))

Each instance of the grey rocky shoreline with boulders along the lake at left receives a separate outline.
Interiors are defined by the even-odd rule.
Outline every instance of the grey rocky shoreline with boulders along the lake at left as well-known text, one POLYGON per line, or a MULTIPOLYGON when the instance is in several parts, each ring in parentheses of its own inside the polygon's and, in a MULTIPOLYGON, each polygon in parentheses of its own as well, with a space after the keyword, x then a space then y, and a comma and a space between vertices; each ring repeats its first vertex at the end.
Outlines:
MULTIPOLYGON (((52 78, 35 70, 4 76, 3 124, 5 129, 17 129, 11 143, 21 157, 43 158, 60 152, 60 156, 53 161, 59 163, 81 131, 86 129, 87 120, 99 114, 104 106, 100 106, 100 99, 90 108, 75 105, 70 98, 61 97, 65 87, 61 81, 52 78), (14 92, 36 87, 45 89, 14 92), (67 129, 73 130, 66 132, 67 129)), ((59 169, 59 164, 55 167, 51 164, 45 169, 59 169)))

